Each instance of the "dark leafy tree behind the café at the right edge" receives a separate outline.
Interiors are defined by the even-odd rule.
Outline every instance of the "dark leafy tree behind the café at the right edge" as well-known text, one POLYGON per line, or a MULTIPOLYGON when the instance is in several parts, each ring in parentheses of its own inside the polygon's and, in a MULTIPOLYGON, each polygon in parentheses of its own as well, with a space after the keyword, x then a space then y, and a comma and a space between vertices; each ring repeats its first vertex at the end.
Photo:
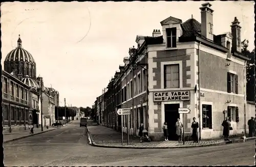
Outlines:
POLYGON ((242 53, 246 55, 249 58, 249 61, 247 61, 246 64, 246 100, 247 101, 254 101, 255 93, 254 93, 254 87, 255 87, 255 74, 254 74, 254 49, 250 52, 248 50, 248 40, 244 40, 242 42, 242 53))

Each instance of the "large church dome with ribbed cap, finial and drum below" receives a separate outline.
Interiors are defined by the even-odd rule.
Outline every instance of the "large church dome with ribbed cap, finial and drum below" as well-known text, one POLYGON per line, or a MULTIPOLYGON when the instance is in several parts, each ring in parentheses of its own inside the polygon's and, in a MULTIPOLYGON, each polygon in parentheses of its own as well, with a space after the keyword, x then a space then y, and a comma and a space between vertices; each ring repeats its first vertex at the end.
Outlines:
POLYGON ((18 74, 22 74, 23 77, 28 75, 29 77, 36 78, 36 63, 31 53, 22 47, 22 40, 19 38, 17 40, 18 46, 11 50, 4 62, 4 69, 8 73, 13 70, 17 70, 18 74))

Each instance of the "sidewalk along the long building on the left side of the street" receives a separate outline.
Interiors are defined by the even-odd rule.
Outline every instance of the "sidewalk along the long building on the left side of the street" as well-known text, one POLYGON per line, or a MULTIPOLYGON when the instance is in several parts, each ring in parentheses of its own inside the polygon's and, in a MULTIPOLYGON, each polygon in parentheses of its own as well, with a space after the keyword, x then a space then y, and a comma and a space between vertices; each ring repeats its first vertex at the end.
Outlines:
POLYGON ((46 127, 44 127, 44 131, 41 131, 41 128, 34 128, 34 133, 31 134, 30 130, 26 130, 23 132, 14 132, 14 133, 7 133, 4 134, 4 143, 9 143, 12 141, 16 141, 19 140, 20 138, 25 138, 28 136, 32 136, 32 135, 36 135, 36 134, 40 134, 40 133, 45 133, 51 130, 55 130, 57 127, 52 127, 50 126, 49 129, 47 129, 46 127))

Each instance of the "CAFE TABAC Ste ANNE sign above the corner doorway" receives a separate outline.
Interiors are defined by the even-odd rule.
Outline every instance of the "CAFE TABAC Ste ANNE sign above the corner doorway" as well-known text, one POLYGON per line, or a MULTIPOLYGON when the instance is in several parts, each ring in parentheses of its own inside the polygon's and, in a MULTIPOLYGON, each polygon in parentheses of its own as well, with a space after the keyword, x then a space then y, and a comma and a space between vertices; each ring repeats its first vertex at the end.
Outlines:
POLYGON ((190 91, 154 92, 154 101, 184 101, 190 100, 190 91))

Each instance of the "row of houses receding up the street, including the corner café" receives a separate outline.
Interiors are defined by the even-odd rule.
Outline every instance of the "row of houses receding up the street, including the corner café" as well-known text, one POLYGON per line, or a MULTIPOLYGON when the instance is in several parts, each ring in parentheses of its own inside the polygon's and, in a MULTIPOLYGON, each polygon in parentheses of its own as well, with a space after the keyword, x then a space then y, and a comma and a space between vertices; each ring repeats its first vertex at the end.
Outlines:
MULTIPOLYGON (((151 37, 137 36, 137 47, 129 49, 108 86, 95 101, 100 124, 138 135, 139 125, 152 140, 163 137, 167 123, 169 138, 175 140, 178 118, 185 136, 192 133, 191 122, 199 122, 199 138, 222 136, 222 121, 229 117, 231 134, 247 131, 255 110, 246 109, 246 61, 241 53, 241 25, 237 17, 231 32, 215 35, 214 10, 202 4, 201 23, 193 18, 168 17, 162 31, 151 37), (117 115, 119 108, 130 108, 131 115, 117 115), (190 112, 179 114, 179 108, 190 112)), ((253 105, 254 106, 254 105, 253 105)))

